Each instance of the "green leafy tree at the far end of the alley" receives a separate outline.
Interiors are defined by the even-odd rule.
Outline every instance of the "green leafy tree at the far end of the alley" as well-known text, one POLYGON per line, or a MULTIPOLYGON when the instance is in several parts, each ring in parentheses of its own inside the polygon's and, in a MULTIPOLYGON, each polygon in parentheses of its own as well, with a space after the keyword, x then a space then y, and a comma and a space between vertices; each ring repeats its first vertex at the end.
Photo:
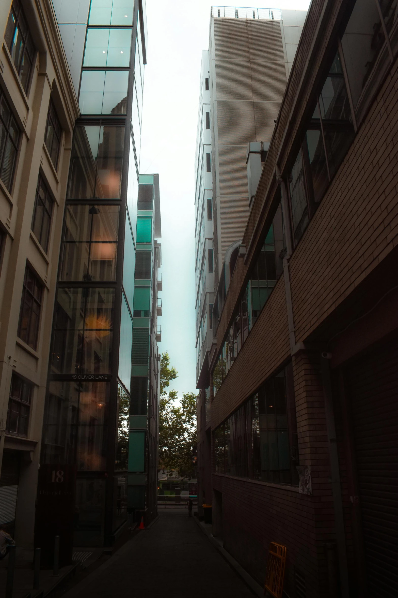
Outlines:
POLYGON ((177 470, 181 477, 195 477, 193 453, 196 452, 196 395, 183 393, 180 406, 177 390, 166 388, 178 376, 170 367, 168 353, 161 358, 161 399, 159 406, 159 465, 168 471, 177 470))

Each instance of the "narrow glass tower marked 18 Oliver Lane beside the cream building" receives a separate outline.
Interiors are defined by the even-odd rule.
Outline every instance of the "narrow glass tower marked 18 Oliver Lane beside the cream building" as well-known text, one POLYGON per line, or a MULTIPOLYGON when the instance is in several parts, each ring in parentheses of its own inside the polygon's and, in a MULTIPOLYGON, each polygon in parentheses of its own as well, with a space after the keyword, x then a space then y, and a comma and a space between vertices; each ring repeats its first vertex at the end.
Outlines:
POLYGON ((75 469, 73 544, 95 546, 112 542, 137 508, 127 499, 128 416, 146 14, 144 2, 134 0, 72 6, 54 0, 54 8, 81 117, 61 238, 41 463, 75 469))

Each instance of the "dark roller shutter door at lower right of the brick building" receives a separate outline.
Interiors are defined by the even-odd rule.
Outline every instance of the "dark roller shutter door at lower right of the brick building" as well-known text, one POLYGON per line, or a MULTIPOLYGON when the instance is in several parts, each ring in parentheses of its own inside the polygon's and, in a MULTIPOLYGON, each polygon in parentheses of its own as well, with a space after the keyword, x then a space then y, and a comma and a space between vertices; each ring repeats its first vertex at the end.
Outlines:
POLYGON ((347 371, 368 595, 398 596, 398 340, 347 371))

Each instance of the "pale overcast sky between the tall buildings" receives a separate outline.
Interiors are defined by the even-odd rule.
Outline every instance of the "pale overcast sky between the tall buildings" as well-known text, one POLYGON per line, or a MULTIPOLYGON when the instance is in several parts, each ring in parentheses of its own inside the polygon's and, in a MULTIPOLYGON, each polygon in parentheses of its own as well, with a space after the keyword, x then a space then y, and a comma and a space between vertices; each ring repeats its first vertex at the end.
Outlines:
MULTIPOLYGON (((178 370, 171 388, 179 396, 196 392, 194 163, 200 60, 209 45, 212 4, 146 0, 148 51, 140 172, 159 173, 163 273, 159 349, 168 351, 178 370)), ((246 4, 297 10, 307 10, 309 5, 309 0, 246 4)))

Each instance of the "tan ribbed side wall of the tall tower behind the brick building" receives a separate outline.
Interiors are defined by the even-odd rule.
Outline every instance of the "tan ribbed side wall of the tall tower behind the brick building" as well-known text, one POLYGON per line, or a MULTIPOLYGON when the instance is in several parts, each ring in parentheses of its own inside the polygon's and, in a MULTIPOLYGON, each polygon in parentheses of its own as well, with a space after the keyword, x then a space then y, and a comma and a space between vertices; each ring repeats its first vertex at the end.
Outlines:
MULTIPOLYGON (((215 252, 224 258, 230 245, 242 238, 249 215, 247 145, 270 141, 286 87, 280 23, 215 19, 213 59, 220 210, 220 230, 214 227, 214 239, 215 252)), ((222 261, 217 266, 220 271, 222 261)), ((216 288, 217 280, 215 274, 216 288)))

